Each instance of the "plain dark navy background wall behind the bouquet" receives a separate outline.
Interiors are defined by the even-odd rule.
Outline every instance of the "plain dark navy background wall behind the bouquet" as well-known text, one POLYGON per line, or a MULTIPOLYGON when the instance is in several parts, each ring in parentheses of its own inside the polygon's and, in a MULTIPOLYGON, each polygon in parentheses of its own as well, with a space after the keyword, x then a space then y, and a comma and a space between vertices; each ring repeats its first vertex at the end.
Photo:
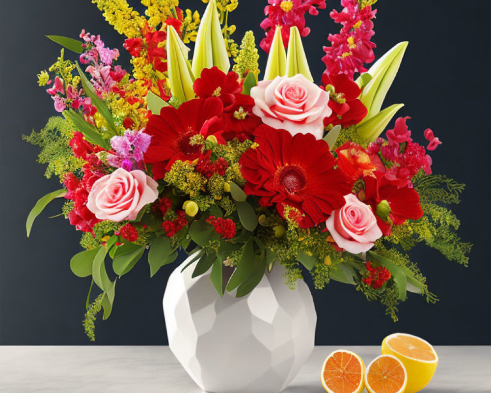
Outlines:
MULTIPOLYGON (((199 0, 181 3, 204 8, 199 0)), ((265 4, 240 1, 230 16, 238 25, 236 40, 248 28, 261 37, 265 4)), ((398 323, 351 286, 333 282, 324 291, 313 291, 317 344, 377 344, 395 331, 435 344, 490 344, 490 2, 381 0, 377 6, 377 57, 409 40, 386 105, 406 104, 399 114, 412 116, 409 126, 417 141, 424 142, 427 127, 443 141, 432 153, 433 169, 467 183, 454 211, 462 220, 464 240, 475 246, 468 268, 428 248, 415 250, 413 260, 440 301, 428 305, 410 294, 399 308, 398 323)), ((329 0, 328 9, 333 7, 339 10, 339 2, 329 0)), ((304 45, 312 73, 320 79, 322 46, 327 33, 338 27, 327 10, 307 19, 312 33, 304 45)), ((88 0, 0 1, 0 344, 88 343, 81 322, 90 279, 75 277, 68 265, 80 251, 80 233, 62 218, 47 218, 59 213, 61 202, 55 202, 26 238, 29 209, 59 185, 43 177, 45 168, 35 162, 37 147, 21 140, 21 134, 39 130, 55 114, 52 100, 36 84, 35 75, 59 54, 44 35, 77 37, 82 28, 124 52, 123 38, 88 0)), ((263 69, 265 60, 262 53, 263 69)), ((121 63, 127 61, 122 55, 121 63)), ((143 259, 119 281, 110 319, 97 323, 97 344, 165 344, 161 302, 175 266, 164 267, 150 280, 143 259)))

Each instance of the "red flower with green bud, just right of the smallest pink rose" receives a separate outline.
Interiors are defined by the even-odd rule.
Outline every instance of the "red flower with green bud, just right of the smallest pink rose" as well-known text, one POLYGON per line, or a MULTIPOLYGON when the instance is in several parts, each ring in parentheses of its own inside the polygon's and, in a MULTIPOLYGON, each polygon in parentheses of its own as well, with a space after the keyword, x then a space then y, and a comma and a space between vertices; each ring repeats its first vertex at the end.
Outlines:
MULTIPOLYGON (((409 186, 398 187, 397 184, 390 182, 382 173, 377 173, 376 177, 365 176, 365 195, 360 198, 363 202, 372 207, 373 212, 377 212, 377 206, 382 201, 386 201, 390 207, 388 218, 385 222, 377 216, 377 224, 385 236, 391 233, 391 223, 401 225, 406 220, 419 220, 423 216, 423 210, 419 203, 419 194, 409 186)), ((358 195, 360 197, 360 195, 358 195)))

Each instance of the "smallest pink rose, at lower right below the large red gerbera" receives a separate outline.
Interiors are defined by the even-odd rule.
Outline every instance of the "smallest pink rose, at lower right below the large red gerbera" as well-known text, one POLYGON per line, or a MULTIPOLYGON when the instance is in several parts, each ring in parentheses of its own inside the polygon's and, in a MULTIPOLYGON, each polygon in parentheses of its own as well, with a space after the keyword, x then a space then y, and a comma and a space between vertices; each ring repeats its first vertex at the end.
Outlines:
POLYGON ((364 253, 382 237, 382 231, 370 206, 353 194, 346 195, 344 199, 346 204, 327 219, 327 229, 336 244, 348 253, 364 253))

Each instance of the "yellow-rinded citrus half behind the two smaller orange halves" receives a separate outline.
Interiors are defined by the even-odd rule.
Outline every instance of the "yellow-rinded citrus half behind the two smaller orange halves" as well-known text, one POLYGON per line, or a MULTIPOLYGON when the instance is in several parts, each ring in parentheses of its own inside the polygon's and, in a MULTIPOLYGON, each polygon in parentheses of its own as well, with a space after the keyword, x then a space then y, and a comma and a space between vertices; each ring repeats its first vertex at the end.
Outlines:
POLYGON ((405 333, 385 337, 382 341, 382 354, 394 355, 406 367, 406 393, 419 392, 428 385, 438 365, 438 356, 430 343, 405 333))

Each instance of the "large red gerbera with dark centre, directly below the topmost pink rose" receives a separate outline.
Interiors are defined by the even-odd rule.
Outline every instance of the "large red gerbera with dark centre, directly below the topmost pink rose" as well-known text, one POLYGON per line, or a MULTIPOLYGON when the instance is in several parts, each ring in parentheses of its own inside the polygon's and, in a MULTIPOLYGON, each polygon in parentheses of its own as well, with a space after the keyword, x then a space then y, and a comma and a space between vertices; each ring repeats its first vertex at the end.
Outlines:
POLYGON ((247 195, 259 196, 262 206, 276 204, 283 216, 285 206, 297 208, 305 215, 302 227, 326 221, 345 204, 353 182, 334 169, 336 159, 326 142, 311 134, 292 137, 266 125, 254 135, 259 147, 247 150, 239 161, 247 195))

